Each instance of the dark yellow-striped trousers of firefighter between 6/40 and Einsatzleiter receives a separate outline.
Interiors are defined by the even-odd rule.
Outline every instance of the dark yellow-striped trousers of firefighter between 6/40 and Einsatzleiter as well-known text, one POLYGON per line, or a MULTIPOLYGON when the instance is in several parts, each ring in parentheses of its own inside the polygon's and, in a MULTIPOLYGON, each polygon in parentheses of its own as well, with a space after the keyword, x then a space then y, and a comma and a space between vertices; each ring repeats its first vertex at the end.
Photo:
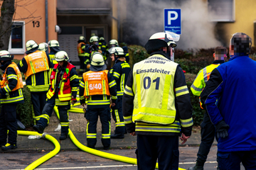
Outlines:
POLYGON ((124 116, 122 114, 122 98, 117 98, 117 106, 112 107, 112 118, 114 119, 116 128, 115 134, 124 134, 124 116))

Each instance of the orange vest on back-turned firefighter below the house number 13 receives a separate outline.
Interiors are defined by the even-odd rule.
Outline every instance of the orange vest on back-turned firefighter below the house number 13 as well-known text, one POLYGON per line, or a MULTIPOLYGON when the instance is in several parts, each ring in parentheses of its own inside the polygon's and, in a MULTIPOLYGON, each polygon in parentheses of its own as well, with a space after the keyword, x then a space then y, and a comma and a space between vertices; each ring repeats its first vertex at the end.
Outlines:
POLYGON ((28 69, 26 73, 24 73, 26 78, 32 74, 44 72, 50 69, 46 52, 36 50, 36 52, 26 55, 24 58, 28 65, 28 69))

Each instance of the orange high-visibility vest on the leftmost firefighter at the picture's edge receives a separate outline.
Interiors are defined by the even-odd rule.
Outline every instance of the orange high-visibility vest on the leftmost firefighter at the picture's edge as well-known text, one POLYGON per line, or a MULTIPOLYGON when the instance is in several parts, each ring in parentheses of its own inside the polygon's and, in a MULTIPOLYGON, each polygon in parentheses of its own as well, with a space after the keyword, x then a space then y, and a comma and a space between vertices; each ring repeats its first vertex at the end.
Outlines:
MULTIPOLYGON (((17 75, 17 84, 14 87, 14 89, 12 89, 11 91, 16 91, 18 89, 23 88, 22 76, 21 76, 20 70, 18 69, 18 66, 15 64, 15 62, 11 62, 11 64, 9 64, 9 66, 6 68, 6 70, 9 67, 13 68, 17 75)), ((0 84, 1 84, 1 88, 4 88, 7 84, 9 84, 9 81, 6 77, 6 72, 4 72, 4 75, 2 76, 2 80, 1 80, 0 84)))

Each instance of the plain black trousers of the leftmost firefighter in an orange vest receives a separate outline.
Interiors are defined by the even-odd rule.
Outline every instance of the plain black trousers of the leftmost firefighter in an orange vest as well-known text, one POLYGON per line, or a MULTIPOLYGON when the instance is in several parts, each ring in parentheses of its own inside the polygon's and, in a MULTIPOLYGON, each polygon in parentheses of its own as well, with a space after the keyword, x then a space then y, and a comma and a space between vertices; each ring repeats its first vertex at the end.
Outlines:
POLYGON ((8 143, 16 145, 17 142, 17 104, 2 104, 0 113, 0 144, 5 145, 7 130, 9 130, 8 143))

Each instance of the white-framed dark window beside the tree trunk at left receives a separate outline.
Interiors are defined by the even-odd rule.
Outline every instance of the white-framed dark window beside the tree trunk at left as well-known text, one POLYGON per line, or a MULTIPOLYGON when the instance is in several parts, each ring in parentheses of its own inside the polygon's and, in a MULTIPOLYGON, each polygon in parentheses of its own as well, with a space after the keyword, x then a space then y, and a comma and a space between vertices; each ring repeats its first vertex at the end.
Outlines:
POLYGON ((11 26, 9 52, 11 54, 24 54, 25 52, 25 22, 24 21, 14 21, 13 26, 11 26))

